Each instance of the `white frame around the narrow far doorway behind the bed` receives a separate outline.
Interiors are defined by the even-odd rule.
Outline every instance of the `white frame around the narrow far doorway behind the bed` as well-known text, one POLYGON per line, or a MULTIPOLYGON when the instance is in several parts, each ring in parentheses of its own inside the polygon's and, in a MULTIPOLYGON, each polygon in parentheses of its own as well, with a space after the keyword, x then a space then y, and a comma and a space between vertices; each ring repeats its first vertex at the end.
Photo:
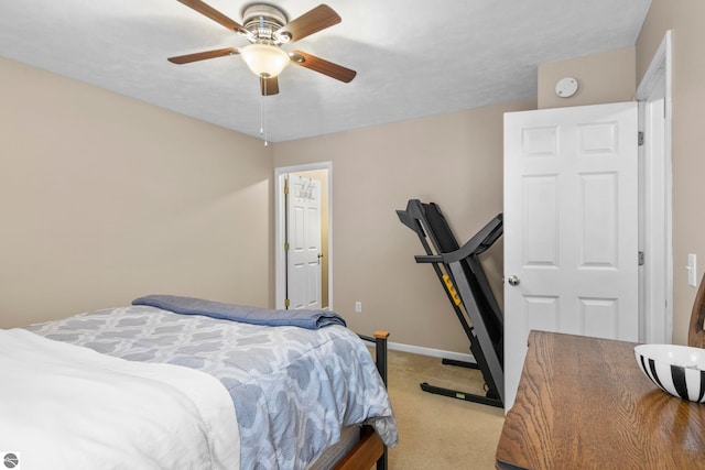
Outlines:
POLYGON ((333 162, 307 163, 274 168, 274 308, 285 308, 284 300, 286 299, 286 256, 284 255, 286 204, 283 192, 284 178, 289 173, 312 170, 326 170, 328 175, 328 193, 325 195, 328 198, 328 234, 325 240, 328 245, 328 256, 324 262, 328 265, 328 306, 326 309, 333 309, 333 162))

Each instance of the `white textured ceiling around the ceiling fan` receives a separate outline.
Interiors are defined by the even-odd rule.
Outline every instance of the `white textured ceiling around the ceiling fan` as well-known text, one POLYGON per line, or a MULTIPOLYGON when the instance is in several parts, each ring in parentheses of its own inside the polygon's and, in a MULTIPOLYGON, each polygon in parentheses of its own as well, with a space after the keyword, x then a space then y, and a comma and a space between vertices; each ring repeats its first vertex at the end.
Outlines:
MULTIPOLYGON (((242 22, 248 0, 205 0, 242 22)), ((280 0, 290 20, 317 6, 280 0)), ((239 56, 166 57, 247 41, 176 0, 2 0, 0 56, 281 142, 535 96, 542 63, 634 45, 651 0, 329 0, 340 24, 284 48, 357 70, 290 66, 262 98, 239 56)), ((0 76, 0 86, 2 86, 0 76)))

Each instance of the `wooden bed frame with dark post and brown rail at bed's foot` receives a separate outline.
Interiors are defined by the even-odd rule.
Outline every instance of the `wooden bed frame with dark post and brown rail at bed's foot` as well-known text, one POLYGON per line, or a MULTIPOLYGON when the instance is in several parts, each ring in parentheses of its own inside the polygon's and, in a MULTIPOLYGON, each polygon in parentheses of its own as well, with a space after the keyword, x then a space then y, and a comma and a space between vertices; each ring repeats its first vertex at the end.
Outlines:
MULTIPOLYGON (((388 331, 375 331, 373 337, 358 335, 364 341, 375 343, 377 370, 387 385, 388 331)), ((360 440, 338 461, 335 470, 369 470, 377 462, 377 470, 387 470, 387 446, 371 426, 362 426, 360 440)))

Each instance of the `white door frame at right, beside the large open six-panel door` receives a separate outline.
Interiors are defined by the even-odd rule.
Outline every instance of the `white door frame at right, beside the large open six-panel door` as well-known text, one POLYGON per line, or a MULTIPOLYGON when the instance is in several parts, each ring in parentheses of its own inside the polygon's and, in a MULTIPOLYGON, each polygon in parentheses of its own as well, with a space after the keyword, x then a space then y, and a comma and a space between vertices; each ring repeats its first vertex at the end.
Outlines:
POLYGON ((644 132, 639 147, 642 342, 673 341, 671 50, 669 30, 637 88, 639 130, 644 132))

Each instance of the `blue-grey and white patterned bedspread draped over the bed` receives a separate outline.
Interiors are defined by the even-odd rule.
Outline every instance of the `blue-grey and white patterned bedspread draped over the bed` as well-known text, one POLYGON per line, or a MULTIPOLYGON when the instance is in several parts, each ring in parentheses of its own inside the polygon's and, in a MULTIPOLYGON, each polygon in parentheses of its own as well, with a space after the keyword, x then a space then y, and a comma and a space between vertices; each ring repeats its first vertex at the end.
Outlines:
POLYGON ((216 376, 235 403, 242 468, 304 469, 337 442, 341 425, 369 423, 386 445, 397 444, 375 362, 341 326, 267 327, 130 306, 28 329, 109 356, 216 376))

